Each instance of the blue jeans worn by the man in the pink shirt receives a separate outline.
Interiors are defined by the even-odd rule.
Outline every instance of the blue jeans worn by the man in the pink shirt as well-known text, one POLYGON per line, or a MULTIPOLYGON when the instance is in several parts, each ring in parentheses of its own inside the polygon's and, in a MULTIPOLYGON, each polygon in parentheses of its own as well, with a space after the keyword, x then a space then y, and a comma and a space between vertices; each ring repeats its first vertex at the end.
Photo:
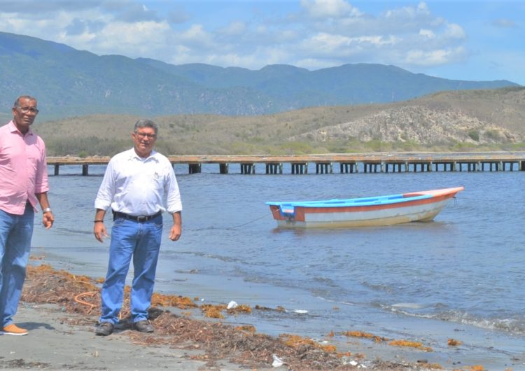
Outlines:
POLYGON ((0 325, 13 323, 22 295, 25 268, 33 235, 34 209, 29 202, 23 215, 0 210, 0 325))

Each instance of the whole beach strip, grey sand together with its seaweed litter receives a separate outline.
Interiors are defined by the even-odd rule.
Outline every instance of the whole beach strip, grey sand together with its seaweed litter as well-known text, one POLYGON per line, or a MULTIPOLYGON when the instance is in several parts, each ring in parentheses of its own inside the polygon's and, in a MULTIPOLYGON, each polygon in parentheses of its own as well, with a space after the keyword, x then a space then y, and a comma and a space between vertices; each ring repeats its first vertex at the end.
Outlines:
MULTIPOLYGON (((155 318, 152 317, 156 328, 153 335, 132 331, 122 321, 113 335, 97 337, 94 335, 99 300, 96 284, 88 277, 58 272, 50 267, 28 268, 24 301, 20 303, 15 321, 30 333, 21 337, 0 336, 0 349, 5 349, 2 352, 5 354, 0 356, 0 368, 485 370, 482 365, 461 362, 433 363, 435 356, 421 347, 418 349, 413 344, 391 346, 377 339, 374 341, 370 338, 372 334, 365 332, 349 337, 346 344, 339 342, 337 345, 329 335, 314 342, 299 335, 271 337, 258 334, 246 323, 232 324, 235 323, 235 312, 227 313, 225 306, 215 308, 224 313, 225 320, 205 318, 202 308, 194 307, 188 298, 182 298, 185 300, 177 304, 167 302, 169 297, 164 295, 157 300, 164 300, 169 311, 167 307, 156 311, 155 318), (94 294, 79 296, 90 292, 94 294), (80 299, 74 300, 75 297, 80 299), (178 330, 170 331, 169 328, 178 330), (272 367, 272 354, 279 355, 285 364, 272 367)), ((512 370, 506 365, 498 370, 504 369, 512 370)))

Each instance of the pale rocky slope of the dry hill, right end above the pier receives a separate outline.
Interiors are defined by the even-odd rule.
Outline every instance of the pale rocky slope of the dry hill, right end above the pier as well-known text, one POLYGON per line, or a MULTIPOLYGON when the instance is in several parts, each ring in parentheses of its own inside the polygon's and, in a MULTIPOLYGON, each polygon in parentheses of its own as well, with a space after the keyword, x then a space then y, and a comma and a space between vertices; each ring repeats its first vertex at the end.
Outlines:
POLYGON ((440 92, 391 104, 367 116, 305 132, 297 141, 358 139, 450 147, 524 141, 525 89, 440 92))

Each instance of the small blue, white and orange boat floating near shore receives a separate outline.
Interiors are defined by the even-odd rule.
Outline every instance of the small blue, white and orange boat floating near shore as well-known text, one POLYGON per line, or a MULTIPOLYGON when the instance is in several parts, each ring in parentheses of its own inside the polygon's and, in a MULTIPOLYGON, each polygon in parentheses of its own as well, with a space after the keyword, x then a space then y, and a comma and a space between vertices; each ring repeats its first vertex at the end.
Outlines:
POLYGON ((463 187, 318 202, 267 202, 279 228, 353 228, 433 221, 463 187))

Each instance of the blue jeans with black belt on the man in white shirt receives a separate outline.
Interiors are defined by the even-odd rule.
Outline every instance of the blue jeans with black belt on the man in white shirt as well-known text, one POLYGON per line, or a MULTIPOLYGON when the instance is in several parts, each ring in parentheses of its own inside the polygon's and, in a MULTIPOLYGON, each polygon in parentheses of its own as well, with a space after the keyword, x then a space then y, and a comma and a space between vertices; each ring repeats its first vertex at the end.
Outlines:
POLYGON ((161 237, 162 215, 144 223, 124 218, 116 218, 113 222, 108 272, 101 293, 101 323, 118 323, 126 276, 132 258, 134 270, 131 290, 132 321, 148 319, 161 237))

